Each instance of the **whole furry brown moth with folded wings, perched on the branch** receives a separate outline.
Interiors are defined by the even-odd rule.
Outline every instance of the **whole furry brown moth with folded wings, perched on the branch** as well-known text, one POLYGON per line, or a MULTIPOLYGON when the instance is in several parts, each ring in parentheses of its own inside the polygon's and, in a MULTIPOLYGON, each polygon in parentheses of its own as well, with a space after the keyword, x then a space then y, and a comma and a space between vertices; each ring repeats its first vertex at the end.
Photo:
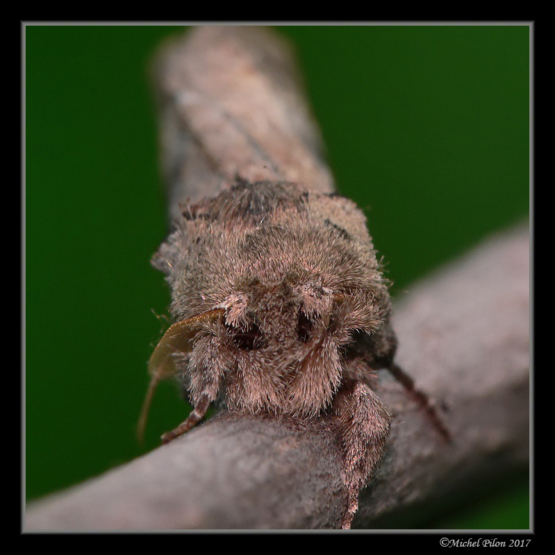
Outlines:
MULTIPOLYGON (((392 421, 374 392, 377 370, 390 369, 439 429, 445 429, 427 398, 394 363, 397 340, 388 280, 364 213, 333 192, 329 183, 322 185, 317 172, 322 165, 314 149, 301 151, 307 142, 315 142, 305 108, 295 105, 312 133, 310 140, 298 142, 297 120, 297 135, 291 132, 287 141, 279 140, 280 130, 282 135, 290 132, 281 119, 270 126, 274 135, 267 139, 256 135, 260 124, 251 112, 236 108, 241 95, 219 88, 219 72, 204 77, 206 65, 221 56, 219 71, 225 74, 231 67, 238 72, 236 83, 228 78, 227 86, 240 87, 242 76, 249 76, 254 98, 249 110, 254 110, 258 89, 267 81, 254 81, 260 60, 270 77, 276 75, 272 67, 279 66, 283 88, 282 51, 272 41, 252 28, 201 28, 165 53, 164 106, 181 133, 169 133, 172 143, 166 149, 174 190, 183 183, 185 190, 194 190, 188 183, 191 175, 202 182, 215 172, 220 183, 211 187, 211 194, 199 193, 173 205, 172 232, 152 260, 169 284, 174 324, 149 360, 151 383, 139 430, 144 429, 156 385, 174 376, 183 380, 194 409, 162 436, 163 442, 190 430, 215 402, 243 413, 329 418, 342 449, 348 492, 342 527, 349 528, 359 490, 379 469, 392 421), (234 58, 226 58, 230 52, 234 58), (195 65, 199 56, 203 63, 195 65), (245 112, 243 119, 233 110, 245 112), (252 131, 249 125, 255 125, 252 131), (276 135, 279 146, 272 147, 276 135), (178 148, 175 154, 180 137, 178 146, 188 150, 178 148), (230 153, 229 144, 250 145, 251 150, 245 155, 245 146, 230 153), (295 158, 281 154, 283 147, 309 160, 297 163, 308 167, 309 176, 288 170, 295 158), (189 164, 201 160, 201 169, 190 172, 183 158, 189 164), (301 179, 288 179, 291 176, 301 179)), ((267 94, 270 108, 264 117, 270 118, 275 107, 272 94, 267 94)), ((287 114, 281 117, 287 120, 287 114)))

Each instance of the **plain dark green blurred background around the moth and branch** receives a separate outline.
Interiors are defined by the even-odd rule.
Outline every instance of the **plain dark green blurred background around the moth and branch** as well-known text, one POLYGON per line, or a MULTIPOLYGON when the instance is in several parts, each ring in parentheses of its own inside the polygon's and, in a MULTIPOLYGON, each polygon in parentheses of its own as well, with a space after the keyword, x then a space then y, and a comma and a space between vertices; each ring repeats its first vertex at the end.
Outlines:
MULTIPOLYGON (((135 422, 169 293, 147 62, 169 26, 27 26, 26 495, 158 445, 172 384, 135 422)), ((529 27, 288 26, 340 191, 366 208, 392 290, 529 213, 529 27)), ((428 528, 529 527, 527 474, 428 528)))

